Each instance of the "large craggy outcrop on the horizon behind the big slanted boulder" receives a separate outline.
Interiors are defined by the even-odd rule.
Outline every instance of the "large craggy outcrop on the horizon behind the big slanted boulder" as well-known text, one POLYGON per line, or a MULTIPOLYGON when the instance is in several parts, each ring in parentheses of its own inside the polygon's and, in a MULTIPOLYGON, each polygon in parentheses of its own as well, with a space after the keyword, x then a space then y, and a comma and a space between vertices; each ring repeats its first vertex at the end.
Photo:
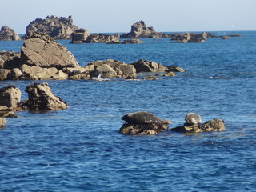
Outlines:
POLYGON ((70 39, 74 30, 78 30, 78 26, 73 25, 73 19, 47 16, 46 19, 37 18, 26 27, 26 36, 34 32, 48 34, 55 39, 70 39))

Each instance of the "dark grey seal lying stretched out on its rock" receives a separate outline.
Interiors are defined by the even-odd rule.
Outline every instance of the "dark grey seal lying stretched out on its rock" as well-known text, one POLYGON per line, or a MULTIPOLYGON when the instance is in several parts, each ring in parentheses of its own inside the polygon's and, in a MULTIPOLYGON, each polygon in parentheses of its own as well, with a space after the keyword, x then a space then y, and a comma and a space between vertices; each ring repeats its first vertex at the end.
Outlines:
POLYGON ((136 125, 148 125, 148 124, 158 124, 158 125, 170 125, 169 120, 164 120, 158 118, 154 114, 150 114, 146 111, 138 111, 130 114, 125 114, 122 120, 126 121, 128 124, 136 125))

